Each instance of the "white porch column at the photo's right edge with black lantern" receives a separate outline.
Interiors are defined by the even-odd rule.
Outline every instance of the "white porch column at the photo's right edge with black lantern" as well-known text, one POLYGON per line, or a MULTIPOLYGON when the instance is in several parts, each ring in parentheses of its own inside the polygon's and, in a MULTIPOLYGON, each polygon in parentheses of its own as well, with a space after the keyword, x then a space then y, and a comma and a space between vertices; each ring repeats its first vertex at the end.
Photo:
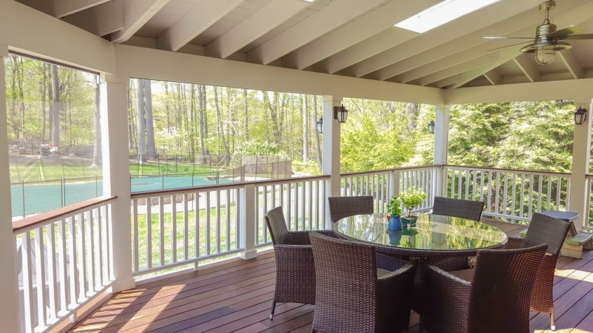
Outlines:
POLYGON ((568 211, 580 214, 579 218, 575 220, 575 227, 580 230, 584 223, 589 220, 587 216, 589 189, 587 188, 585 175, 589 173, 593 100, 589 98, 575 99, 575 111, 579 107, 587 109, 587 121, 582 125, 575 125, 571 197, 568 202, 568 211))

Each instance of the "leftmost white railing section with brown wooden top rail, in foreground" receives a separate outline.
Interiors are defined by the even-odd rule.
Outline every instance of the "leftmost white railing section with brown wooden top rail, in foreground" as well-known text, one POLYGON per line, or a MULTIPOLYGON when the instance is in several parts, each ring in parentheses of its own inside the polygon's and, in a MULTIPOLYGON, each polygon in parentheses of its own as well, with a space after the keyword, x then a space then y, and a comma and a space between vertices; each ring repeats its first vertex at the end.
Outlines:
POLYGON ((24 332, 44 332, 75 316, 114 281, 114 199, 90 199, 13 224, 24 332))

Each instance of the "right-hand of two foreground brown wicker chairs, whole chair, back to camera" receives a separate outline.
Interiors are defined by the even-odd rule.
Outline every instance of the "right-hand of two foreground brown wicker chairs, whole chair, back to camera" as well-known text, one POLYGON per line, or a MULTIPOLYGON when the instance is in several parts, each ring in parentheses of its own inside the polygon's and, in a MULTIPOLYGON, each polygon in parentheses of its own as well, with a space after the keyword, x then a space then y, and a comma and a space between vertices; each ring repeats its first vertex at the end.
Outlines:
POLYGON ((423 264, 421 327, 439 333, 529 332, 533 276, 546 248, 481 250, 471 282, 423 264))

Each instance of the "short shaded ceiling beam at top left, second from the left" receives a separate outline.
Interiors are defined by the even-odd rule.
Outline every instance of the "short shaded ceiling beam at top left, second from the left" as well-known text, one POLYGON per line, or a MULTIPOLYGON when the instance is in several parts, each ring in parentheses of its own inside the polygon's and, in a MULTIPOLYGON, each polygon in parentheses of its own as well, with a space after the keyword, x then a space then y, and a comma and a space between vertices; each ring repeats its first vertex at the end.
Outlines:
POLYGON ((62 20, 91 34, 105 36, 123 29, 123 0, 112 0, 68 15, 62 20))

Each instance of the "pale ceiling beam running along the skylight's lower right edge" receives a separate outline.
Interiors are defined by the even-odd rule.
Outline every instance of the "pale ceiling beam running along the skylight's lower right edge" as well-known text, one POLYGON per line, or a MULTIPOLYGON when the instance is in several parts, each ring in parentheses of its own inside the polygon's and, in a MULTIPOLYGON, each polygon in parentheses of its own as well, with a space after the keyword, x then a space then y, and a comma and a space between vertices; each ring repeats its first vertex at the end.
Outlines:
MULTIPOLYGON (((457 38, 467 35, 468 31, 488 27, 492 24, 495 24, 496 22, 500 22, 501 20, 504 20, 505 18, 509 17, 510 15, 512 15, 512 13, 510 13, 510 10, 508 9, 509 6, 517 7, 517 2, 527 4, 533 3, 532 7, 536 8, 539 1, 503 0, 498 3, 494 3, 491 6, 477 10, 474 13, 470 13, 469 15, 459 17, 457 20, 453 20, 451 22, 448 22, 447 24, 443 24, 441 27, 437 27, 435 29, 427 31, 421 34, 420 36, 412 39, 411 41, 407 41, 406 43, 397 45, 395 46, 395 48, 390 48, 389 50, 382 52, 379 55, 370 57, 369 59, 366 59, 363 62, 355 64, 354 66, 352 66, 352 68, 348 69, 348 71, 350 71, 350 73, 353 73, 353 75, 357 77, 367 76, 367 74, 369 73, 379 71, 379 69, 383 69, 384 67, 389 66, 390 64, 400 62, 408 57, 416 57, 420 55, 422 52, 434 48, 435 45, 447 46, 448 43, 450 43, 451 41, 454 41, 457 38), (468 27, 471 28, 468 29, 468 27), (444 33, 444 31, 447 32, 444 33)), ((475 45, 475 41, 473 42, 473 44, 475 45)), ((450 45, 449 48, 453 49, 456 48, 456 46, 450 45)), ((456 48, 456 50, 459 50, 459 48, 456 48)), ((432 57, 435 56, 437 55, 432 54, 432 57)), ((392 76, 392 73, 377 72, 373 73, 368 77, 376 79, 386 79, 392 76)))

